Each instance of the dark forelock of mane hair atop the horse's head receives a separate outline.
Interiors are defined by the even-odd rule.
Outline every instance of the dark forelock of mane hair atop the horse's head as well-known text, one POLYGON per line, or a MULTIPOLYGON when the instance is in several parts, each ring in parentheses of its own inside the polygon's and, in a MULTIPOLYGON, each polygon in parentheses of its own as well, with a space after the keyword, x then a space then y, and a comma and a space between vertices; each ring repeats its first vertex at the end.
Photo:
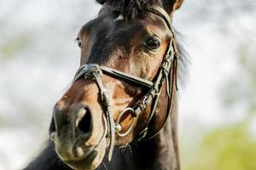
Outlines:
POLYGON ((113 10, 117 10, 124 16, 125 20, 132 20, 143 11, 157 5, 162 7, 161 0, 96 0, 98 3, 107 4, 113 10))

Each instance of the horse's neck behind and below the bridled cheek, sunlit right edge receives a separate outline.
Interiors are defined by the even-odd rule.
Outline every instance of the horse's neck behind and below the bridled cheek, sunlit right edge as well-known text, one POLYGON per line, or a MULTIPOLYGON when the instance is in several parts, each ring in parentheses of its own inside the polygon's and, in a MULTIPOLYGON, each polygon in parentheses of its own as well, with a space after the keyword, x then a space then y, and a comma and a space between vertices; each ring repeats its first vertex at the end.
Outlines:
POLYGON ((159 135, 135 147, 137 169, 178 170, 177 95, 174 96, 172 116, 159 135), (146 167, 146 168, 145 168, 146 167))

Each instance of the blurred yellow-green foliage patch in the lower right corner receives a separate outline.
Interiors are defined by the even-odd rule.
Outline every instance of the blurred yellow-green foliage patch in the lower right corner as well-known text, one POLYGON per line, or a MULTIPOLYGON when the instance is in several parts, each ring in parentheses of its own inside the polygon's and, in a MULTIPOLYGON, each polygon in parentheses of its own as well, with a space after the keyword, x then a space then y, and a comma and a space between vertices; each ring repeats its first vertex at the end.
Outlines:
POLYGON ((219 127, 202 139, 186 170, 255 170, 256 141, 248 132, 249 122, 219 127))

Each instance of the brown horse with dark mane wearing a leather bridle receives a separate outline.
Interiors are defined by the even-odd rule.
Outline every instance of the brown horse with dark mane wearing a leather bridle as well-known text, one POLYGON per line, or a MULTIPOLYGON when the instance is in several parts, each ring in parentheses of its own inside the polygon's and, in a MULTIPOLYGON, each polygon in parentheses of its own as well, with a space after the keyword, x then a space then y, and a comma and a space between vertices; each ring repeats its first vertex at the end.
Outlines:
MULTIPOLYGON (((97 0, 79 70, 55 104, 49 141, 26 170, 179 170, 172 16, 183 0, 97 0)), ((180 70, 180 69, 178 69, 180 70)))

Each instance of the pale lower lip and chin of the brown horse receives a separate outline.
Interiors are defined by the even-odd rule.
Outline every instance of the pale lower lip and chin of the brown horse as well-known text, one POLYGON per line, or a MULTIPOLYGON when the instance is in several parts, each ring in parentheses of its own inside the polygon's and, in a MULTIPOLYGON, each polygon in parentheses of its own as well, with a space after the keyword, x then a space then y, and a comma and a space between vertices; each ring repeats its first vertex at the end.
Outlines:
POLYGON ((106 152, 106 140, 96 145, 96 148, 92 150, 88 156, 79 161, 64 161, 69 167, 75 170, 93 170, 98 167, 103 160, 106 152))

